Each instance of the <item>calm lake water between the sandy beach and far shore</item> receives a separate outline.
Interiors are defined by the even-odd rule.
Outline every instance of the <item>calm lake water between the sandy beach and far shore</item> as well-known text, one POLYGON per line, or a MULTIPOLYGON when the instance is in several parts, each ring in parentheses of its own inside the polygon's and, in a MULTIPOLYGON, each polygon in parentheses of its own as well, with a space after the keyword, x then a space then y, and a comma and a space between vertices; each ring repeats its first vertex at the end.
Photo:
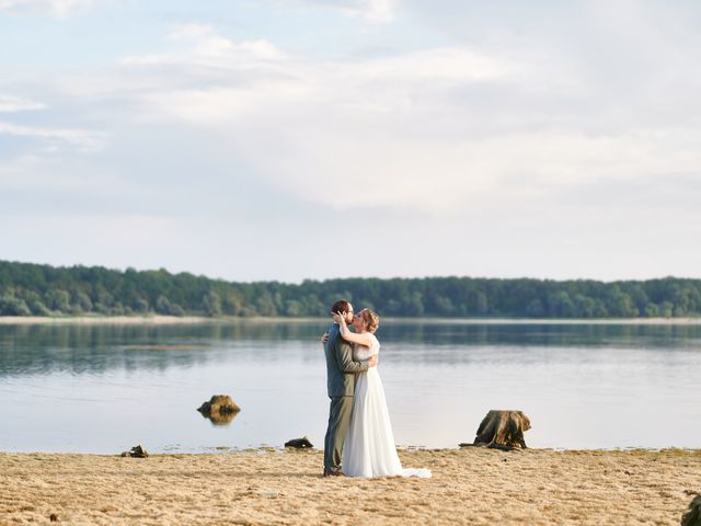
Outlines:
MULTIPOLYGON (((325 321, 0 325, 0 450, 114 454, 323 444, 325 321), (214 425, 196 408, 228 393, 214 425)), ((490 409, 531 447, 701 447, 701 327, 387 322, 380 374, 401 445, 472 442, 490 409)))

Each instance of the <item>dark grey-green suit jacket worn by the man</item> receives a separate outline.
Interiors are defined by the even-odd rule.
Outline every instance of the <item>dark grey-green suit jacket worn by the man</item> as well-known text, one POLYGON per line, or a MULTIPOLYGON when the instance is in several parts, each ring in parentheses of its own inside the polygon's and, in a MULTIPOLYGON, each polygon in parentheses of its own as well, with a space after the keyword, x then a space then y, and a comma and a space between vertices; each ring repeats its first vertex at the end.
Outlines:
POLYGON ((341 338, 341 328, 334 323, 329 329, 324 344, 326 355, 326 389, 329 398, 352 397, 355 392, 355 375, 368 370, 367 363, 353 361, 353 347, 341 338))

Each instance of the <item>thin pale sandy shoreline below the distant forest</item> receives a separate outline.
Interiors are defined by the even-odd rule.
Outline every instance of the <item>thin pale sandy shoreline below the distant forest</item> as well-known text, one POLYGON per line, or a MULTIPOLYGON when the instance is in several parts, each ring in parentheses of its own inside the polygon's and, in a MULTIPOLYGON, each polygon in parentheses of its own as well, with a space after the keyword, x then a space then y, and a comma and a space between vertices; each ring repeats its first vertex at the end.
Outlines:
MULTIPOLYGON (((115 325, 168 325, 207 323, 309 323, 327 322, 327 318, 284 318, 284 317, 218 317, 202 316, 0 316, 0 325, 39 324, 115 324, 115 325)), ((466 325, 701 325, 698 318, 393 318, 389 323, 466 324, 466 325)))

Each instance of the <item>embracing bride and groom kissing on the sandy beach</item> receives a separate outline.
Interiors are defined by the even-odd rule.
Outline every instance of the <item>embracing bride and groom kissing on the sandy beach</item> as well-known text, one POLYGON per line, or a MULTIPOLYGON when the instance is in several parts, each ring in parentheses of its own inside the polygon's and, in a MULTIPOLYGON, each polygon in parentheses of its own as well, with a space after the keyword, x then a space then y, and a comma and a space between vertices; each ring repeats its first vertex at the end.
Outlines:
POLYGON ((430 477, 427 469, 402 469, 397 455, 377 370, 378 316, 369 309, 354 313, 344 299, 333 304, 331 313, 334 323, 322 336, 331 398, 324 477, 430 477))

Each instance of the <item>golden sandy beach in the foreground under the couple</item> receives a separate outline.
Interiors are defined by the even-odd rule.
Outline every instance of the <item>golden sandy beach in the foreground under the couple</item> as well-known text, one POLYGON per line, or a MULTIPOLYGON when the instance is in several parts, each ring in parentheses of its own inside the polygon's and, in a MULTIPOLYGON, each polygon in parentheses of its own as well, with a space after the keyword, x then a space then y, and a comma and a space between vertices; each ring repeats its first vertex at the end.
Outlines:
POLYGON ((701 450, 401 450, 432 479, 322 478, 322 454, 0 454, 0 524, 678 525, 701 450))

